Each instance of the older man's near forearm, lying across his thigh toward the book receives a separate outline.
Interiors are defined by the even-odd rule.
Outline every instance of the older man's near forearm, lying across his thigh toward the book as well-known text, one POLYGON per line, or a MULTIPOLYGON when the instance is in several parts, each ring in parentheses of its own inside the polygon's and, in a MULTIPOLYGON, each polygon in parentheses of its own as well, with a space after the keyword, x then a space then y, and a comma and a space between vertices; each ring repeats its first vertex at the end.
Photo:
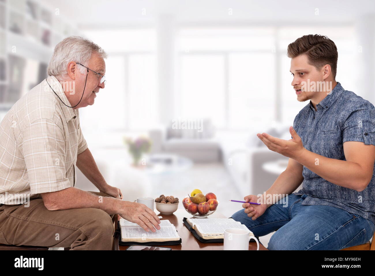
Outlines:
POLYGON ((93 193, 69 187, 64 190, 42 194, 43 201, 48 210, 67 210, 77 208, 97 208, 108 214, 116 214, 126 203, 117 198, 97 196, 93 193), (47 198, 48 197, 48 198, 47 198))

